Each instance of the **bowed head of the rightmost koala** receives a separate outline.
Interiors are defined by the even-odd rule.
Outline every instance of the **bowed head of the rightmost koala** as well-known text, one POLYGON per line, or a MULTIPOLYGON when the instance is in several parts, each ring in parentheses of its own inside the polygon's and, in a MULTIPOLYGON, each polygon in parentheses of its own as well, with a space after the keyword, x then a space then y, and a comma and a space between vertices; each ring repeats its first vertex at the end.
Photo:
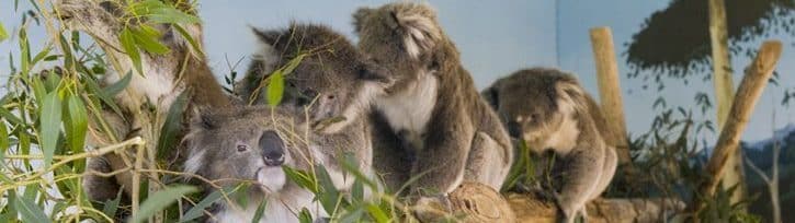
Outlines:
POLYGON ((522 139, 535 150, 570 121, 576 102, 584 96, 577 79, 552 69, 518 71, 482 92, 497 110, 511 138, 522 139))

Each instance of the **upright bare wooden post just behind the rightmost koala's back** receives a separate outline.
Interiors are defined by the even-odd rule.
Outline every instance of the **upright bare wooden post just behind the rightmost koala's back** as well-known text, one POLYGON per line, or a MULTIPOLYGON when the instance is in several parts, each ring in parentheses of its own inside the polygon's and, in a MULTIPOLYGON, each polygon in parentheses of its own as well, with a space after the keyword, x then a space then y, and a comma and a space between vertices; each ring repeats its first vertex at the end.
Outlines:
POLYGON ((610 27, 591 28, 591 46, 593 59, 597 63, 597 81, 599 83, 599 101, 602 113, 607 120, 605 138, 614 142, 618 163, 631 162, 629 148, 627 146, 626 121, 624 120, 624 101, 621 96, 621 84, 618 77, 618 63, 615 61, 613 47, 613 34, 610 27))

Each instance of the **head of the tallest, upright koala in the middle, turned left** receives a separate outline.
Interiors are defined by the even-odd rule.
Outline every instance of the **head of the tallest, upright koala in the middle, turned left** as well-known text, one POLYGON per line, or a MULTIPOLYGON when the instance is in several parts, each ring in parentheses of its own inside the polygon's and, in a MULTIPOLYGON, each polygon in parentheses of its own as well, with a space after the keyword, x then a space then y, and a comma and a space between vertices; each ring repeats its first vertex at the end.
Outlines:
POLYGON ((435 11, 425 4, 361 8, 353 20, 359 48, 391 71, 396 89, 417 80, 419 73, 457 66, 458 52, 442 32, 435 11))

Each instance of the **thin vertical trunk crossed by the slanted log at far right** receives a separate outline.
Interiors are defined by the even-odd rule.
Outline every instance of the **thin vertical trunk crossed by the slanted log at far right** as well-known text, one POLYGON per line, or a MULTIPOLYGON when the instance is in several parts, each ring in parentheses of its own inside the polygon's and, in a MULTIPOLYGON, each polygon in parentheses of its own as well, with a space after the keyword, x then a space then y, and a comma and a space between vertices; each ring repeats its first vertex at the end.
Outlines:
MULTIPOLYGON (((717 124, 723 131, 726 116, 731 106, 734 96, 734 81, 731 80, 731 60, 729 58, 728 32, 726 25, 726 3, 724 0, 709 1, 709 37, 712 40, 713 79, 715 83, 715 98, 717 101, 717 124)), ((737 203, 746 195, 745 173, 742 169, 742 151, 735 151, 727 160, 728 172, 724 175, 724 188, 737 186, 731 195, 731 203, 737 203)))

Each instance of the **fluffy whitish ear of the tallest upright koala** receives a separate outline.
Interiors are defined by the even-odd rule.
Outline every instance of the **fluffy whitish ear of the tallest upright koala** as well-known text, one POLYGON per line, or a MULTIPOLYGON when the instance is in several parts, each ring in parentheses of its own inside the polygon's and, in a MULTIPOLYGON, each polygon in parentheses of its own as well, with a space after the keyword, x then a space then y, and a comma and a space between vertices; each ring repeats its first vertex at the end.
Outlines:
POLYGON ((402 30, 404 46, 413 58, 433 48, 442 36, 436 23, 436 12, 425 4, 414 3, 398 7, 390 12, 397 28, 402 30))

